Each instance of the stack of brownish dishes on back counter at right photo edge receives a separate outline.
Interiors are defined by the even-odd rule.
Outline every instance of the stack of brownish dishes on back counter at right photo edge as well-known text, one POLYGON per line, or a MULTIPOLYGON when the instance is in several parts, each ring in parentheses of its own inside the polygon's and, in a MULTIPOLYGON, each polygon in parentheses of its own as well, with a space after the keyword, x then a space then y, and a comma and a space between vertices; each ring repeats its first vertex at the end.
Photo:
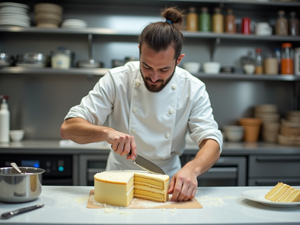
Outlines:
POLYGON ((288 146, 300 146, 300 111, 288 111, 286 119, 281 119, 278 143, 288 146))

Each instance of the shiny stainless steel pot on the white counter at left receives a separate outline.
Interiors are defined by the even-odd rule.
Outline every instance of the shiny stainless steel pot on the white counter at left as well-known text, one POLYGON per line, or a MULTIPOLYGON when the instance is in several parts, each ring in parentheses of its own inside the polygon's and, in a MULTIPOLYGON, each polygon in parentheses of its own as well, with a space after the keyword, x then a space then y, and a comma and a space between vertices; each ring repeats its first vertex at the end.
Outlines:
POLYGON ((12 167, 0 168, 0 201, 19 203, 32 201, 42 193, 43 169, 19 167, 20 174, 12 167))

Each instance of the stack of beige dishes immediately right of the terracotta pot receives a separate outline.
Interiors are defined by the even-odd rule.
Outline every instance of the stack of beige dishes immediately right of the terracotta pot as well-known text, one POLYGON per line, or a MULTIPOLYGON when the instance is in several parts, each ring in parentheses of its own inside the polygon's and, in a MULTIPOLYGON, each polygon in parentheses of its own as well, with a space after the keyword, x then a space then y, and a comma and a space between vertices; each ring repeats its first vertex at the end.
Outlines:
POLYGON ((262 120, 262 140, 265 142, 277 142, 279 133, 279 114, 277 105, 257 105, 254 109, 254 117, 262 120))

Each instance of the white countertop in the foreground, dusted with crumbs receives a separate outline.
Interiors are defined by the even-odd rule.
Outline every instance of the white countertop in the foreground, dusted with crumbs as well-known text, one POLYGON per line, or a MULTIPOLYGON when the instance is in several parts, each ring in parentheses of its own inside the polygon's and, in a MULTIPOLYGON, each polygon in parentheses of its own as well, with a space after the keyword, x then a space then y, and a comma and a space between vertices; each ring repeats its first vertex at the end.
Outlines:
MULTIPOLYGON (((274 208, 245 199, 241 193, 272 187, 198 187, 200 209, 105 209, 86 208, 94 187, 43 186, 32 202, 0 202, 0 214, 27 206, 43 208, 17 215, 0 224, 300 224, 300 205, 274 208)), ((300 188, 300 187, 296 187, 300 188)))

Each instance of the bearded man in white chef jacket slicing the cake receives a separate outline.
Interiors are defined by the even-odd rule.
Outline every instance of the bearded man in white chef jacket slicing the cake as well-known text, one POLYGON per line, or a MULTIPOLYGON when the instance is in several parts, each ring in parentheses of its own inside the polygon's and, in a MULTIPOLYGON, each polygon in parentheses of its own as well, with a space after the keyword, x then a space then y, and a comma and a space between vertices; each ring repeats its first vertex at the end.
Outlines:
POLYGON ((197 176, 218 160, 222 134, 204 83, 177 67, 184 57, 181 10, 166 8, 161 15, 163 22, 150 23, 139 36, 140 61, 110 69, 70 109, 61 137, 80 144, 107 141, 112 151, 106 170, 140 170, 126 160, 139 153, 172 177, 171 201, 186 201, 196 194, 197 176), (107 116, 109 127, 102 126, 107 116), (182 167, 187 131, 200 150, 182 167))

